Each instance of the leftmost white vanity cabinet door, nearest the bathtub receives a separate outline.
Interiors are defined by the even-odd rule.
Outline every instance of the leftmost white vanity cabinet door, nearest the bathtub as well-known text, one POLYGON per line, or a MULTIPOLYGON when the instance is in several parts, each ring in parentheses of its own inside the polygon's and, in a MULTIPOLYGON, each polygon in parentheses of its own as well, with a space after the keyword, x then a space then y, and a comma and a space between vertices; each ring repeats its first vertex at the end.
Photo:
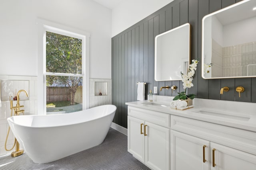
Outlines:
POLYGON ((144 123, 141 119, 128 116, 128 152, 142 162, 144 162, 144 123))

